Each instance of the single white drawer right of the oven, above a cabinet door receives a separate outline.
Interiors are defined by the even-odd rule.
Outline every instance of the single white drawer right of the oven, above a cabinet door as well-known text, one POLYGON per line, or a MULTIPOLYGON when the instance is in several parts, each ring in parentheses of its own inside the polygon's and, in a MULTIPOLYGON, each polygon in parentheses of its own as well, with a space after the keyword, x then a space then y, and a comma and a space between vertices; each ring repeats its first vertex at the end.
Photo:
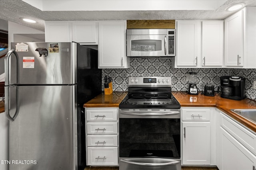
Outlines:
POLYGON ((183 121, 210 121, 210 109, 182 109, 183 121))

